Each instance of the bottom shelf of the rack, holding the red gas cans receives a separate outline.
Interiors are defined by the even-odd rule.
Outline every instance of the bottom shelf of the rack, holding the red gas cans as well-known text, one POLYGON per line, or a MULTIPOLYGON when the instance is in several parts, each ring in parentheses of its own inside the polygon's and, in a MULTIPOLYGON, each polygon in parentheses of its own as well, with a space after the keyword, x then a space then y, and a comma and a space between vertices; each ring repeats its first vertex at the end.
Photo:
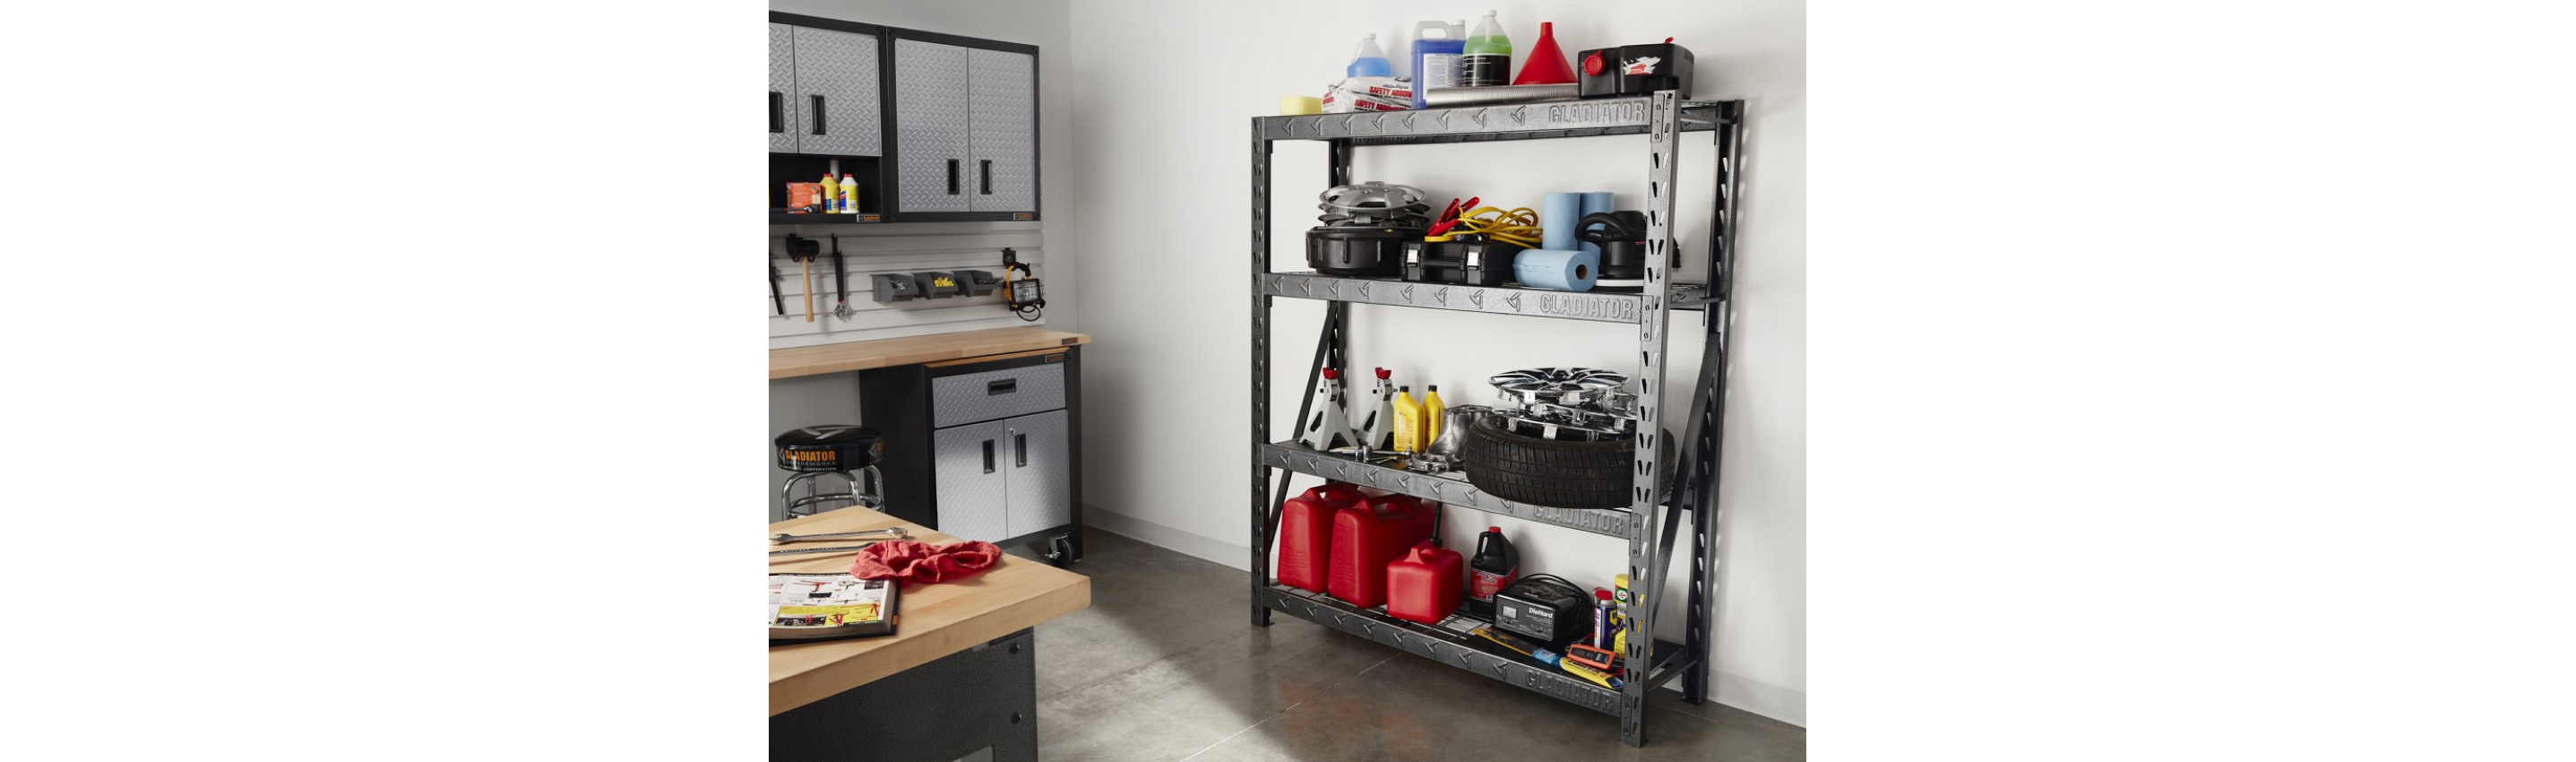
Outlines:
MULTIPOLYGON (((1486 638, 1463 633, 1466 626, 1481 626, 1481 618, 1450 615, 1440 626, 1422 626, 1386 615, 1386 608, 1358 608, 1345 600, 1306 592, 1285 584, 1270 584, 1262 590, 1262 605, 1270 610, 1288 613, 1301 620, 1311 620, 1327 628, 1337 628, 1352 636, 1394 646, 1399 651, 1412 651, 1440 664, 1450 664, 1466 672, 1476 672, 1492 680, 1520 685, 1525 690, 1543 692, 1548 698, 1582 705, 1597 713, 1618 716, 1620 692, 1610 687, 1592 685, 1561 667, 1548 667, 1538 659, 1515 654, 1510 649, 1494 646, 1486 638)), ((1654 641, 1649 654, 1654 669, 1643 672, 1646 690, 1669 682, 1682 669, 1690 669, 1687 649, 1674 641, 1654 641)), ((1638 672, 1631 669, 1631 680, 1638 672)))

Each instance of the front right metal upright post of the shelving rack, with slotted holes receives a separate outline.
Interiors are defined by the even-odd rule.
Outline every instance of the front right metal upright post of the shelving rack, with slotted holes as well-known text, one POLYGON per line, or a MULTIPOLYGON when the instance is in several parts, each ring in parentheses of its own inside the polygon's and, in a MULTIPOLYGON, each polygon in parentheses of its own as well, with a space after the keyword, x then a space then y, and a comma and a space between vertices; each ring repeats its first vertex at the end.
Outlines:
POLYGON ((1646 605, 1628 613, 1628 687, 1620 690, 1618 736, 1628 747, 1646 744, 1646 690, 1654 672, 1654 595, 1664 590, 1664 561, 1672 553, 1669 523, 1656 507, 1664 487, 1664 327, 1672 322, 1672 198, 1677 162, 1682 157, 1682 98, 1672 90, 1654 93, 1646 106, 1649 165, 1646 165, 1646 291, 1636 335, 1636 471, 1628 497, 1628 584, 1646 590, 1646 605), (1662 533, 1659 533, 1662 530, 1662 533))

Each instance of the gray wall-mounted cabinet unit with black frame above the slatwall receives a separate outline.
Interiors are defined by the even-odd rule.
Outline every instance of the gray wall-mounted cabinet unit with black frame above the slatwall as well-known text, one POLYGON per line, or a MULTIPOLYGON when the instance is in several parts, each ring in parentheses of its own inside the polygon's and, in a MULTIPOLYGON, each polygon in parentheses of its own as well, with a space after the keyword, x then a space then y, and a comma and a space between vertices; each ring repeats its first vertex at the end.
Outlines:
POLYGON ((881 157, 886 221, 1038 219, 1038 46, 770 13, 768 108, 773 154, 881 157))

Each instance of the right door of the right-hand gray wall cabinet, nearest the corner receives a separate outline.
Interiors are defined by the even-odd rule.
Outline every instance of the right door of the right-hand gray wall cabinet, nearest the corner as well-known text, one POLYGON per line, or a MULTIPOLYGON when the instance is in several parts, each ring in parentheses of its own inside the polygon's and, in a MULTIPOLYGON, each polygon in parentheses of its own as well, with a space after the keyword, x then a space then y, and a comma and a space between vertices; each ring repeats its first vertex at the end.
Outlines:
POLYGON ((1038 59, 969 49, 974 211, 1038 211, 1038 59))

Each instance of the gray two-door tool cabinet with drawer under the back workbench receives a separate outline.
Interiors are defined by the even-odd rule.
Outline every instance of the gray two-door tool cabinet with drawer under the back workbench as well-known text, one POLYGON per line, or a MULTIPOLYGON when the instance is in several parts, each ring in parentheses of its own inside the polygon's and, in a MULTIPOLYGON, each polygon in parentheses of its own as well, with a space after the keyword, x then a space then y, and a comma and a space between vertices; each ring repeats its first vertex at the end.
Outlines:
POLYGON ((886 435, 894 517, 963 541, 1082 559, 1082 348, 858 373, 858 417, 886 435))

